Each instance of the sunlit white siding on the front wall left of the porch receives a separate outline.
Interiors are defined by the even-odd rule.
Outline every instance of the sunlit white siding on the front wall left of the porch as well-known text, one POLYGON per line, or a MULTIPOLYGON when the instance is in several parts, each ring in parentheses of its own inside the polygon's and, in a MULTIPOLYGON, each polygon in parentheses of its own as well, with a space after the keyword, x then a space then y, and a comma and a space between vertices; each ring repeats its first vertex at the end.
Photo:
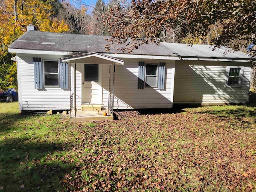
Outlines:
MULTIPOLYGON (((33 57, 60 59, 62 56, 17 54, 20 110, 64 110, 70 108, 70 91, 61 88, 34 88, 33 57)), ((69 68, 68 68, 69 70, 69 68)), ((68 77, 69 78, 69 77, 68 77)))

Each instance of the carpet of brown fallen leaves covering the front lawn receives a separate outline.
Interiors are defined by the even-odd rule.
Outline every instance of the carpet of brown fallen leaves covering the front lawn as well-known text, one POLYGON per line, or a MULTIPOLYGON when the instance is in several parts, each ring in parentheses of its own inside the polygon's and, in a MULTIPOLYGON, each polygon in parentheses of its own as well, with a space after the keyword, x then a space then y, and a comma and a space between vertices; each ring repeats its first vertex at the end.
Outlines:
MULTIPOLYGON (((62 128, 54 128, 48 122, 51 129, 44 137, 35 134, 35 139, 22 143, 31 143, 32 149, 19 153, 22 145, 10 145, 12 160, 27 172, 17 179, 16 188, 22 186, 25 176, 31 179, 36 174, 39 184, 26 184, 26 188, 203 191, 210 186, 215 191, 254 190, 256 168, 251 154, 256 151, 255 130, 248 134, 240 127, 238 131, 230 126, 232 118, 203 112, 123 111, 118 116, 119 120, 94 126, 66 122, 62 128), (40 158, 33 156, 34 149, 40 158), (59 186, 49 180, 57 180, 59 186)), ((19 170, 12 170, 6 178, 13 179, 14 171, 18 174, 19 170)))

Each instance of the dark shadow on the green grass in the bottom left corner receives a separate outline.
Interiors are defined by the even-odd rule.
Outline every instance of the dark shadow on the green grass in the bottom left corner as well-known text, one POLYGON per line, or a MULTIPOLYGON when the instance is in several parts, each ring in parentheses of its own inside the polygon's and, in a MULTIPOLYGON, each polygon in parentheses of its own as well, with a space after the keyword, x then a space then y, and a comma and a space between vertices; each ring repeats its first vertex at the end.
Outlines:
POLYGON ((40 138, 6 138, 0 141, 0 186, 3 191, 59 191, 66 172, 74 164, 54 160, 68 145, 40 138), (24 189, 22 189, 24 187, 24 189))

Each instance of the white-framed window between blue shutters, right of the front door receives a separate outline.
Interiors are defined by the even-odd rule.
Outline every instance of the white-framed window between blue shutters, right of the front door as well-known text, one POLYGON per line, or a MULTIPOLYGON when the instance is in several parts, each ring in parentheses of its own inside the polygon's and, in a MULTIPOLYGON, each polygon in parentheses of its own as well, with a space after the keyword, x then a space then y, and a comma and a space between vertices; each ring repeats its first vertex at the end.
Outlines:
POLYGON ((146 86, 157 87, 157 64, 146 64, 146 86))

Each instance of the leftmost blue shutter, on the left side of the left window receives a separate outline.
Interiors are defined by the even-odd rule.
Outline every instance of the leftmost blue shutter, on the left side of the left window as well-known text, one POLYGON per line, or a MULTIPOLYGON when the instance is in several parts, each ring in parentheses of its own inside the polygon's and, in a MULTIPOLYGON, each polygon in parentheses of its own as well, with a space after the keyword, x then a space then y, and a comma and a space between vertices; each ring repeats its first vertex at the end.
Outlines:
POLYGON ((41 58, 33 58, 34 63, 34 85, 35 89, 43 88, 42 60, 41 58))

